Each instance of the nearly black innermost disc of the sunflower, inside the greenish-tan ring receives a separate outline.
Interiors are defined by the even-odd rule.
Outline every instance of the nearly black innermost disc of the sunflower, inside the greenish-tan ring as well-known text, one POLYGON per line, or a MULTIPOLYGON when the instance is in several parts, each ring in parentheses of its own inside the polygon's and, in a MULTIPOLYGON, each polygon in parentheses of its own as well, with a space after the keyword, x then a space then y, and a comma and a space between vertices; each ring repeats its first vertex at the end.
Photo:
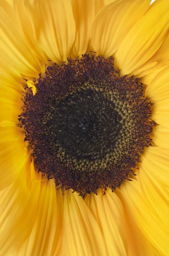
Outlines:
POLYGON ((82 90, 62 99, 47 126, 55 142, 76 159, 95 160, 113 150, 120 116, 113 102, 96 90, 82 90))

